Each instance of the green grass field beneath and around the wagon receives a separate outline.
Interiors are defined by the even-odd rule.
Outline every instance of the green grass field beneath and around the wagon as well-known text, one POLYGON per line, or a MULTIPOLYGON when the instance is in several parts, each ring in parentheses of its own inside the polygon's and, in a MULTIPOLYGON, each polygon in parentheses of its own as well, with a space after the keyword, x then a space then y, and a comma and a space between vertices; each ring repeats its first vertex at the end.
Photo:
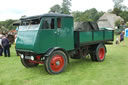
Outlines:
POLYGON ((128 39, 107 46, 104 62, 70 59, 59 75, 49 75, 43 65, 25 68, 12 46, 10 58, 0 56, 0 85, 128 85, 128 39))

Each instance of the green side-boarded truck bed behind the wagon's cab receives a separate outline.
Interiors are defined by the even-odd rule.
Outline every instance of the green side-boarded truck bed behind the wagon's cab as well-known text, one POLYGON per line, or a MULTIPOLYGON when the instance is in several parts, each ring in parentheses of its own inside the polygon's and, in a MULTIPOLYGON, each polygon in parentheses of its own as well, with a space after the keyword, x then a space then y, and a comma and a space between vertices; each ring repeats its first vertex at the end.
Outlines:
POLYGON ((95 30, 90 32, 74 31, 75 47, 85 44, 90 45, 99 42, 107 43, 108 41, 113 41, 113 33, 113 30, 95 30))

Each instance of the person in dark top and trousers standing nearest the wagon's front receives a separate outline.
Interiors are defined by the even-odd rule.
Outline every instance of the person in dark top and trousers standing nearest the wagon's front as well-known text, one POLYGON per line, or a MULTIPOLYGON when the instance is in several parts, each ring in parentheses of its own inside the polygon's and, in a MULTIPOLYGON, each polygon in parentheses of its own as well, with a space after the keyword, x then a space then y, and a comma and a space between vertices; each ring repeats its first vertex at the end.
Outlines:
POLYGON ((4 56, 5 57, 7 57, 7 56, 10 57, 9 40, 6 37, 3 37, 1 44, 3 46, 4 56))

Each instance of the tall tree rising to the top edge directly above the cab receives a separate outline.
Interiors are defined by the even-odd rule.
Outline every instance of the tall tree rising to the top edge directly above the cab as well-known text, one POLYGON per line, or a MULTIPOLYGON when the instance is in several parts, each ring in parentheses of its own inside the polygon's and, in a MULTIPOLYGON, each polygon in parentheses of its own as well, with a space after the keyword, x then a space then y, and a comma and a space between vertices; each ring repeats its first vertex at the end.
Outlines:
POLYGON ((70 11, 71 11, 70 6, 71 6, 71 0, 63 0, 62 13, 70 14, 70 11))

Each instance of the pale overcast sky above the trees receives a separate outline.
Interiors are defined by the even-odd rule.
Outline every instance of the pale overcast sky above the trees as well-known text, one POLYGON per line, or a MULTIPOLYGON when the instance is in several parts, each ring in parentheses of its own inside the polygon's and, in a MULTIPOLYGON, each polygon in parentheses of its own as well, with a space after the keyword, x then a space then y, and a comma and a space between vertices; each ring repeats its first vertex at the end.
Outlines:
MULTIPOLYGON (((63 0, 1 0, 0 21, 19 19, 21 16, 33 16, 47 13, 55 4, 62 4, 63 0)), ((112 0, 72 0, 72 11, 85 11, 96 8, 98 11, 107 11, 113 8, 112 0)), ((128 0, 124 3, 128 6, 128 0)))

